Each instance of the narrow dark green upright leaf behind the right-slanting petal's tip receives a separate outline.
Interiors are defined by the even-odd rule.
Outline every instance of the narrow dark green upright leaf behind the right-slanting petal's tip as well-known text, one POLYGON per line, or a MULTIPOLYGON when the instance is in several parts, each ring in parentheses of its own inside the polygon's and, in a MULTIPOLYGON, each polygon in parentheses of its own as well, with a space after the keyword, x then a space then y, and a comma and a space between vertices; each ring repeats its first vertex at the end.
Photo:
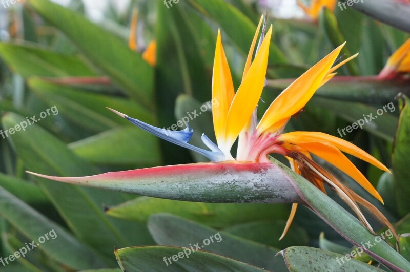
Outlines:
MULTIPOLYGON (((333 48, 340 46, 346 41, 343 34, 340 32, 337 18, 332 11, 327 8, 323 8, 320 12, 319 21, 323 32, 326 34, 326 37, 329 39, 333 48)), ((353 55, 347 46, 342 49, 341 54, 344 54, 346 58, 353 55)), ((345 67, 347 67, 350 75, 359 75, 359 68, 356 64, 356 60, 353 59, 347 62, 345 67)))

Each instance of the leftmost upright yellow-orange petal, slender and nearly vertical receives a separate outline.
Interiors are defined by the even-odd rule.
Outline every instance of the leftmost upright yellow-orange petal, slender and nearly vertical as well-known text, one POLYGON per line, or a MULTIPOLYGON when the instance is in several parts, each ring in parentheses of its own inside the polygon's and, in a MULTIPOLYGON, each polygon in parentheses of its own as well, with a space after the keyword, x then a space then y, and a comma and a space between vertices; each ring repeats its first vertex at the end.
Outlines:
POLYGON ((212 116, 216 140, 221 149, 224 149, 228 111, 234 95, 235 91, 231 70, 229 69, 228 60, 223 51, 221 33, 220 30, 218 30, 212 76, 212 100, 218 101, 218 103, 212 103, 212 116))

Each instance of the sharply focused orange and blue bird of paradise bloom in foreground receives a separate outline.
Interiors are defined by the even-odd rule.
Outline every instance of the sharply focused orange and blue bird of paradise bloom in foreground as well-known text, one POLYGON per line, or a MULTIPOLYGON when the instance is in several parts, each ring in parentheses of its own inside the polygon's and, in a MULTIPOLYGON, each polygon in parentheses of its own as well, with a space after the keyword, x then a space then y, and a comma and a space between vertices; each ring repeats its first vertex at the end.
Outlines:
MULTIPOLYGON (((193 135, 193 130, 190 130, 189 127, 181 131, 169 131, 156 128, 116 110, 110 110, 119 116, 126 118, 139 128, 144 129, 161 139, 170 141, 208 157, 213 162, 213 165, 222 162, 224 164, 240 163, 241 165, 248 164, 250 168, 253 168, 255 163, 271 163, 269 160, 269 154, 281 154, 290 161, 291 168, 296 173, 309 180, 324 194, 326 194, 324 184, 329 185, 331 189, 352 208, 361 223, 367 227, 369 231, 374 233, 358 204, 366 207, 394 232, 393 226, 376 207, 341 183, 331 173, 324 170, 312 159, 311 154, 335 165, 338 169, 352 177, 366 191, 382 203, 383 200, 373 185, 342 152, 356 156, 375 165, 383 171, 389 172, 386 166, 370 154, 356 147, 356 145, 328 134, 320 132, 282 133, 286 123, 288 123, 291 117, 297 114, 305 106, 305 104, 312 98, 315 91, 336 75, 336 69, 345 64, 345 62, 356 57, 357 54, 340 62, 338 65, 333 66, 344 44, 333 50, 329 55, 325 56, 286 88, 271 103, 268 110, 257 123, 257 105, 265 86, 269 46, 272 36, 271 25, 266 34, 262 32, 256 48, 255 57, 253 58, 262 22, 263 16, 259 21, 257 31, 253 38, 245 62, 242 82, 236 93, 234 91, 227 57, 223 50, 221 34, 220 31, 218 31, 212 79, 212 99, 218 101, 217 104, 213 104, 212 108, 217 144, 213 143, 206 135, 202 134, 202 141, 206 144, 209 150, 204 150, 188 143, 193 135), (239 138, 239 140, 235 159, 231 155, 231 148, 237 138, 239 138)), ((263 29, 265 29, 265 23, 263 29)), ((185 166, 184 170, 189 171, 189 167, 185 166)), ((155 171, 161 170, 160 168, 151 169, 148 172, 142 173, 142 175, 151 175, 155 171)), ((170 172, 174 173, 173 170, 170 172)), ((114 172, 91 177, 62 178, 36 173, 31 174, 56 181, 88 186, 90 186, 95 180, 103 180, 106 182, 114 176, 129 178, 133 175, 131 172, 114 172)), ((286 223, 281 238, 284 237, 292 223, 297 205, 297 203, 294 203, 292 206, 290 217, 286 223)), ((396 233, 394 234, 396 236, 396 233)))

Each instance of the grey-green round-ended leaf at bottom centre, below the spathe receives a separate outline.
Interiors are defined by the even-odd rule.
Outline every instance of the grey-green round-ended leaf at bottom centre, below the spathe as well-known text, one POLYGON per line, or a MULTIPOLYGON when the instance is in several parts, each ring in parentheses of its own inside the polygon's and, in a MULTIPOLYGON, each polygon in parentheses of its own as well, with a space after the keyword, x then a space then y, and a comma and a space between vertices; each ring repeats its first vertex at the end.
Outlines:
POLYGON ((160 245, 197 247, 267 270, 284 270, 279 249, 239 238, 227 232, 167 214, 151 216, 148 229, 160 245))

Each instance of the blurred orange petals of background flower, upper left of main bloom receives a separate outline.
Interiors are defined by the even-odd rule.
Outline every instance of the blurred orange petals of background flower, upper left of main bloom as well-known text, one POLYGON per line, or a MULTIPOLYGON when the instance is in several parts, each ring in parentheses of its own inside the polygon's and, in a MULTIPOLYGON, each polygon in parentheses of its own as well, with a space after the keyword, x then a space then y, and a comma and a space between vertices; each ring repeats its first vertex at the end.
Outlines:
POLYGON ((130 36, 128 40, 128 45, 132 51, 144 51, 142 53, 142 58, 148 62, 151 66, 156 66, 157 64, 157 43, 155 40, 151 41, 145 50, 138 49, 137 46, 137 23, 138 23, 138 12, 134 10, 131 19, 131 29, 130 36))

